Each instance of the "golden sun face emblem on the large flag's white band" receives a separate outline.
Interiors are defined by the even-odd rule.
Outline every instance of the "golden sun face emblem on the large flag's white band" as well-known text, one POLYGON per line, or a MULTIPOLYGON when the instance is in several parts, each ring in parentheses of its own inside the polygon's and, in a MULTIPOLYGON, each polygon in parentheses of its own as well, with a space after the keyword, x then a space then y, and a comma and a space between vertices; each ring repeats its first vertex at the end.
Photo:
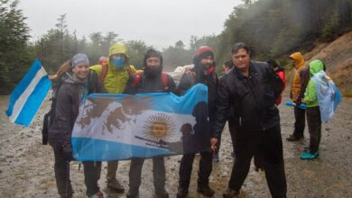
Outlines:
POLYGON ((154 141, 170 141, 174 130, 171 117, 161 112, 149 116, 144 123, 144 137, 154 141))

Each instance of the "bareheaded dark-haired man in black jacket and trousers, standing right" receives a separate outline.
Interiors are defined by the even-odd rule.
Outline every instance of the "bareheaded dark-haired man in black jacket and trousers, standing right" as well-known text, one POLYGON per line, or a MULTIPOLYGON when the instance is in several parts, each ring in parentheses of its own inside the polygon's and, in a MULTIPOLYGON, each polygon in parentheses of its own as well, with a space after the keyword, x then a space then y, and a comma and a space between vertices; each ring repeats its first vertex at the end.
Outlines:
POLYGON ((232 48, 234 69, 220 79, 217 95, 216 121, 213 132, 217 136, 227 121, 230 106, 238 121, 236 130, 236 160, 224 197, 234 197, 245 182, 251 159, 263 152, 264 172, 273 197, 286 197, 286 177, 283 166, 283 141, 280 115, 275 99, 282 83, 273 68, 266 63, 250 60, 245 43, 232 48))

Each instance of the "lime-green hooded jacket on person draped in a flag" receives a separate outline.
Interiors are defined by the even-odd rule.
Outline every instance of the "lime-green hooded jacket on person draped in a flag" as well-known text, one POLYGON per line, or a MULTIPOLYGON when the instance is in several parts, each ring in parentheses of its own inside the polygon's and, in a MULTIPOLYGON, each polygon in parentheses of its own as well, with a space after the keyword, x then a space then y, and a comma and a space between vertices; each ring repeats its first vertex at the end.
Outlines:
MULTIPOLYGON (((310 75, 314 76, 320 71, 324 71, 324 66, 322 62, 320 60, 311 61, 310 75)), ((306 92, 304 93, 303 103, 305 103, 308 107, 319 106, 316 85, 311 78, 310 78, 310 82, 307 85, 306 92)))

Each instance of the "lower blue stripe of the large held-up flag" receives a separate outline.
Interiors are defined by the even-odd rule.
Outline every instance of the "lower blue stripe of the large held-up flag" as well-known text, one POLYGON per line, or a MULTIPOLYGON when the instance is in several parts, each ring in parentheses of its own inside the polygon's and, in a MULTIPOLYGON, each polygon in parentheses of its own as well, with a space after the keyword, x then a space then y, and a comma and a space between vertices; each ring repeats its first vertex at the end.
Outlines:
POLYGON ((169 150, 163 148, 146 148, 101 139, 72 137, 71 143, 73 156, 78 161, 111 161, 131 157, 150 158, 171 154, 169 150))

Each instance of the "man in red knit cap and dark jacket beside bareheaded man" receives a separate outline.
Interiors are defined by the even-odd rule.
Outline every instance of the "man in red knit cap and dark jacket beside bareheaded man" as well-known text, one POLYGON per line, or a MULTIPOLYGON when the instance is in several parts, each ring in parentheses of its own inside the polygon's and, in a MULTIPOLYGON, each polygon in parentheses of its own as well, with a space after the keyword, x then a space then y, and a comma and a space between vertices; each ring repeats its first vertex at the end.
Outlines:
MULTIPOLYGON (((211 123, 214 121, 215 112, 215 96, 218 85, 218 76, 214 72, 214 51, 208 46, 200 47, 195 57, 193 58, 194 67, 186 72, 182 77, 179 85, 180 94, 184 94, 192 85, 202 83, 208 86, 208 113, 203 113, 207 116, 211 123), (208 115, 207 115, 208 114, 208 115)), ((206 117, 206 118, 207 118, 206 117)), ((207 119, 206 119, 207 120, 207 119)), ((207 150, 200 151, 199 161, 199 178, 198 189, 199 193, 206 196, 212 196, 214 191, 208 186, 208 177, 212 170, 212 151, 210 149, 210 131, 208 127, 197 125, 195 127, 195 134, 199 134, 204 143, 208 144, 207 150)), ((189 192, 190 175, 192 172, 193 161, 196 153, 185 153, 181 159, 180 165, 180 181, 177 197, 186 197, 189 192)))

